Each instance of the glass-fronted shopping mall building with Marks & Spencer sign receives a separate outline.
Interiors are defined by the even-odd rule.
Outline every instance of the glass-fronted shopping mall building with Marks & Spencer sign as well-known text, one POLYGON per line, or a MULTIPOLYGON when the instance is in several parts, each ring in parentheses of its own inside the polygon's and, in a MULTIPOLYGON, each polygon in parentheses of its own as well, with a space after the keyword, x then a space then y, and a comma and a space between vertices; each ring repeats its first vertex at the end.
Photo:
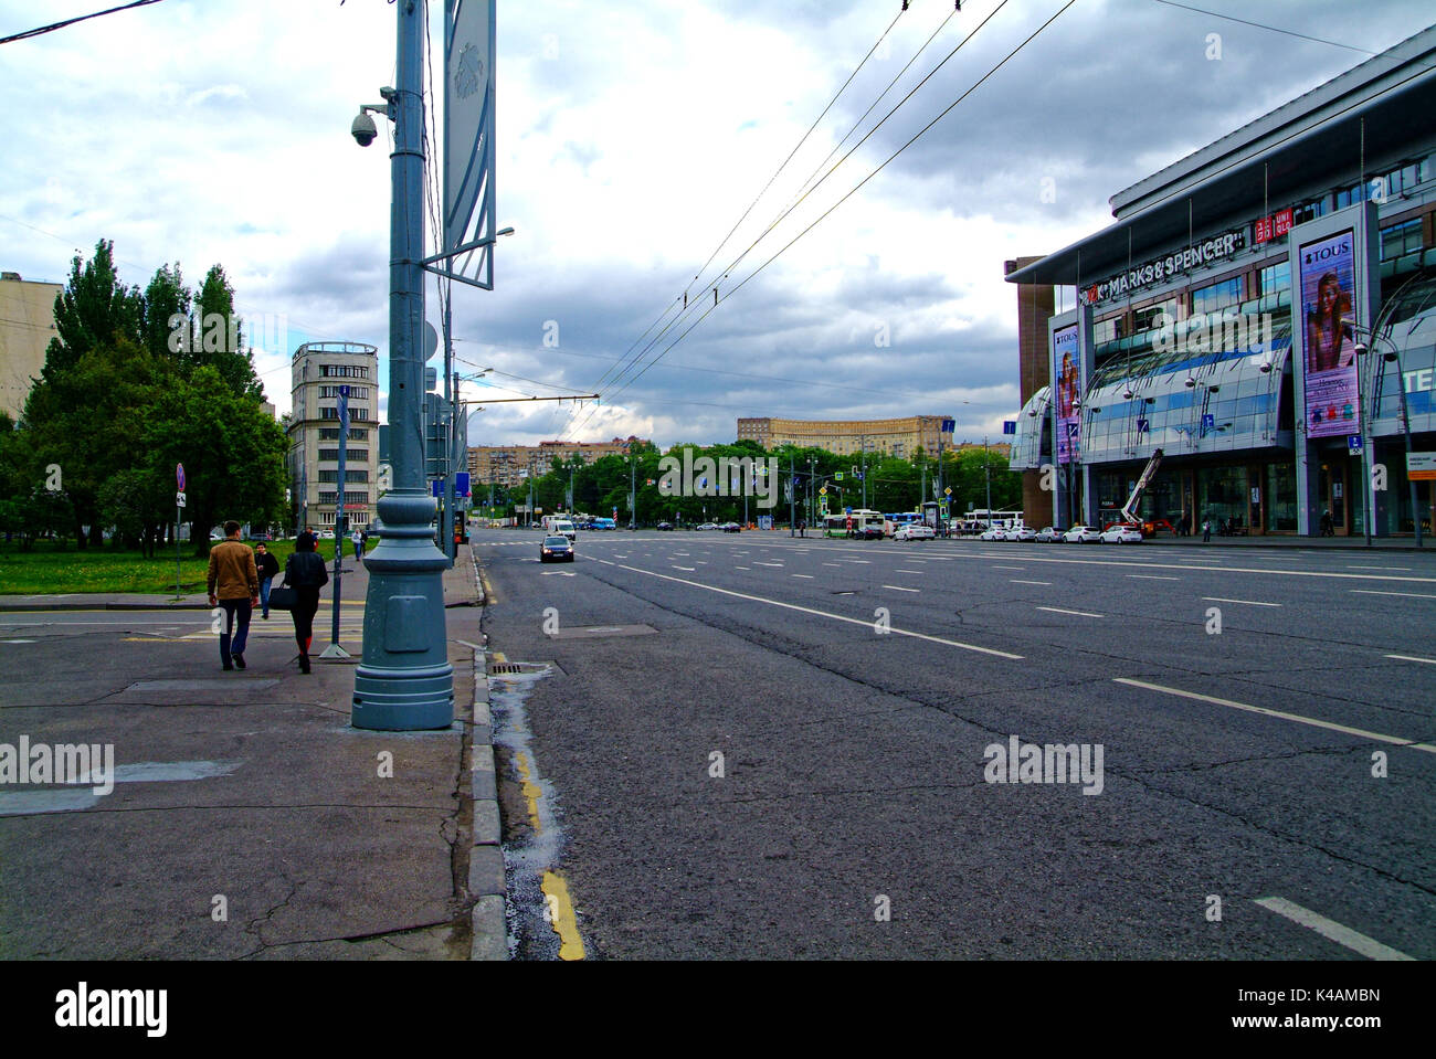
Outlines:
POLYGON ((1028 522, 1113 521, 1160 451, 1139 514, 1176 528, 1430 530, 1406 453, 1436 462, 1433 115, 1436 27, 1008 263, 1028 522))

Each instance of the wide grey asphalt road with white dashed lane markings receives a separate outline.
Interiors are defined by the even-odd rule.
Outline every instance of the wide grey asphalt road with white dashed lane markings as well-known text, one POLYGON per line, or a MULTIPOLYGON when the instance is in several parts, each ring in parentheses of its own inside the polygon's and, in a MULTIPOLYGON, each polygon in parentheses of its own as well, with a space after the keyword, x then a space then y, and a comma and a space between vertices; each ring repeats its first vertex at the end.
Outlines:
POLYGON ((474 541, 549 666, 495 697, 513 893, 537 829, 589 959, 1436 957, 1436 558, 474 541), (1014 738, 1086 782, 988 782, 1014 738))

